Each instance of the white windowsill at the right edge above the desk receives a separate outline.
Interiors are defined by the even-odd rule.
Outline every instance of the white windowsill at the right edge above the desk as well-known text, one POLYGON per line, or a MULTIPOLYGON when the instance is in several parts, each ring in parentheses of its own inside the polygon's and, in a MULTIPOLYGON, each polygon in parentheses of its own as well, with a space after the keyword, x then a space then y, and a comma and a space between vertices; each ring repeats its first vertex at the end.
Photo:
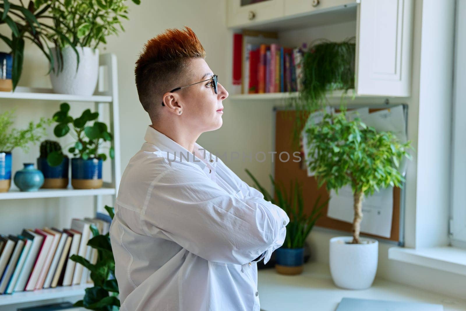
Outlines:
POLYGON ((425 249, 392 247, 388 258, 466 276, 466 249, 452 246, 425 249))

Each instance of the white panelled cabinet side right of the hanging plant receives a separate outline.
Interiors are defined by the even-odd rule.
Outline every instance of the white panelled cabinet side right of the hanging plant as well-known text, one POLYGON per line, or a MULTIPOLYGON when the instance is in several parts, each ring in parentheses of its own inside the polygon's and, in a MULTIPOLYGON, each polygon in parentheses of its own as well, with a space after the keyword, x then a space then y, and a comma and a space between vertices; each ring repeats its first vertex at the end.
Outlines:
POLYGON ((361 0, 357 11, 356 92, 411 96, 412 0, 361 0))

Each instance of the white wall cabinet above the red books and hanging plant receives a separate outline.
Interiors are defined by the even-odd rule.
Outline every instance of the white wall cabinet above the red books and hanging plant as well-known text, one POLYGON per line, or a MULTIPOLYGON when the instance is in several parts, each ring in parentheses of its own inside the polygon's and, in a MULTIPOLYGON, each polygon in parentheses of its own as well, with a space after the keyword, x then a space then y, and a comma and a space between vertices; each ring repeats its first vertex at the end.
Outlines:
MULTIPOLYGON (((317 39, 328 35, 322 26, 354 22, 356 95, 411 96, 413 0, 250 2, 254 0, 228 0, 229 28, 236 32, 242 29, 276 31, 279 40, 288 43, 285 37, 293 36, 293 31, 300 35, 303 30, 308 31, 317 39)), ((300 44, 296 42, 295 46, 300 44)))

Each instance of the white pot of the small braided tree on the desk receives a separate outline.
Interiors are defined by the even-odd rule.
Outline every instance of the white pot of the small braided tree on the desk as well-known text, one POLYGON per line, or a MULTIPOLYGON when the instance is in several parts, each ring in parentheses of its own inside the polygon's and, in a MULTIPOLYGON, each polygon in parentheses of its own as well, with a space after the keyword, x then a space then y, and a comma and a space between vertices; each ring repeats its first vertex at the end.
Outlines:
POLYGON ((330 273, 338 287, 350 290, 369 288, 377 272, 378 242, 360 238, 363 244, 351 244, 351 236, 330 239, 330 273))

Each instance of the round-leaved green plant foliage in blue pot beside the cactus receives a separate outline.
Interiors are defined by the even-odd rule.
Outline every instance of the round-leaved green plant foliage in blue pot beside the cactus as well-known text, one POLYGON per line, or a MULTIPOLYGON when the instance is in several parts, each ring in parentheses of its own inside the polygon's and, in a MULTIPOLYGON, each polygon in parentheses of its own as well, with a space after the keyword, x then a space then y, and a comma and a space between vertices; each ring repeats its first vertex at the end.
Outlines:
MULTIPOLYGON (((87 159, 102 159, 105 161, 107 155, 99 153, 104 142, 113 140, 113 135, 108 131, 107 125, 103 122, 96 121, 99 117, 98 112, 91 112, 89 109, 82 112, 82 115, 73 118, 69 115, 69 104, 62 103, 60 110, 55 112, 53 120, 58 124, 54 128, 56 137, 63 137, 70 134, 75 142, 68 149, 75 157, 87 159), (94 121, 92 125, 90 122, 94 121)), ((109 149, 111 159, 115 157, 113 147, 109 149)), ((52 152, 48 156, 50 165, 59 165, 62 163, 63 154, 61 152, 52 152)))

